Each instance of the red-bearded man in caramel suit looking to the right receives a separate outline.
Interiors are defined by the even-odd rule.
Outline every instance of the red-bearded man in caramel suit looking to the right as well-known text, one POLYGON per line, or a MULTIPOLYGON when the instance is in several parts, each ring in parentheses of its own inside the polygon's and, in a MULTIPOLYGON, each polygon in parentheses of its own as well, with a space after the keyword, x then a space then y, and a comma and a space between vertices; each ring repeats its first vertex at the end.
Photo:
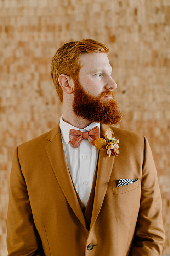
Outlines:
POLYGON ((64 44, 51 64, 57 127, 15 151, 8 256, 158 256, 162 202, 147 139, 115 128, 106 44, 64 44))

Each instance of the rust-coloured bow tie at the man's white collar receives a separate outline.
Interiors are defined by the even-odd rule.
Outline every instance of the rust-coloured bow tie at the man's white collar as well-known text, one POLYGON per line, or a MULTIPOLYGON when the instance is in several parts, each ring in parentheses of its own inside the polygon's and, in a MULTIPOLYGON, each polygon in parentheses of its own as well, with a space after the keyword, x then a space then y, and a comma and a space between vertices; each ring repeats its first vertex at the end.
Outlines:
POLYGON ((100 138, 100 130, 98 126, 95 126, 89 132, 81 132, 80 130, 70 129, 70 143, 73 148, 77 148, 83 139, 88 139, 93 144, 93 141, 100 138))

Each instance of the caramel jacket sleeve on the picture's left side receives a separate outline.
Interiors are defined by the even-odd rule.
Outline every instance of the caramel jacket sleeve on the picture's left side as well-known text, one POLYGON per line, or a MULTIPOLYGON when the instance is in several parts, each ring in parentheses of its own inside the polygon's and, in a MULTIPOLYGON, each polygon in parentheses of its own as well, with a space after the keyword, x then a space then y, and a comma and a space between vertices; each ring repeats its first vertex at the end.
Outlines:
POLYGON ((27 186, 19 165, 18 148, 10 175, 7 219, 8 256, 41 256, 41 240, 34 225, 27 186))

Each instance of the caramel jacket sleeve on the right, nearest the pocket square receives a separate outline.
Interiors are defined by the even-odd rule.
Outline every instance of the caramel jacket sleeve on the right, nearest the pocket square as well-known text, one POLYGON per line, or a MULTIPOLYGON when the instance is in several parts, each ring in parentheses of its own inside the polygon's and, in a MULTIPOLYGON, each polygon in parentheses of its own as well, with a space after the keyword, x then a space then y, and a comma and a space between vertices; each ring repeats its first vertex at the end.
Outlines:
POLYGON ((161 256, 165 238, 162 199, 151 148, 144 139, 141 202, 130 256, 161 256))

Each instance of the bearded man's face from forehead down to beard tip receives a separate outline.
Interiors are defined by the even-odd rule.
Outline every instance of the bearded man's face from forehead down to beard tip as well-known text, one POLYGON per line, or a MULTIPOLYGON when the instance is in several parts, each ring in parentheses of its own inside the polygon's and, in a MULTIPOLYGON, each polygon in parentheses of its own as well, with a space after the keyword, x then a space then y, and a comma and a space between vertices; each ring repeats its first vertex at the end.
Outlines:
POLYGON ((95 53, 81 57, 79 76, 73 79, 73 112, 90 122, 118 124, 121 113, 113 92, 117 85, 111 77, 107 55, 95 53))

